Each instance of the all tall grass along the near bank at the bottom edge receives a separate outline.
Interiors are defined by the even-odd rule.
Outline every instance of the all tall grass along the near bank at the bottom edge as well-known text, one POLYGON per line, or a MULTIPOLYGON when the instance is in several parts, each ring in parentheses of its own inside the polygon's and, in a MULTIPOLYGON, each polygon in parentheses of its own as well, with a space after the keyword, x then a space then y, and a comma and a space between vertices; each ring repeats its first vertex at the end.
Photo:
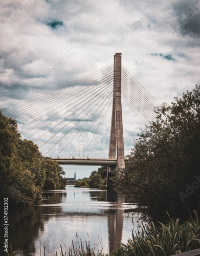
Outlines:
MULTIPOLYGON (((109 254, 104 254, 102 242, 97 248, 91 248, 90 242, 82 241, 75 248, 60 245, 60 251, 52 253, 47 245, 40 244, 40 256, 168 256, 200 248, 200 222, 197 213, 195 219, 190 215, 187 222, 180 224, 179 219, 170 220, 168 224, 160 223, 159 227, 142 224, 132 230, 132 238, 121 244, 109 254), (41 249, 42 247, 42 249, 41 249)), ((15 254, 16 255, 16 254, 15 254)))

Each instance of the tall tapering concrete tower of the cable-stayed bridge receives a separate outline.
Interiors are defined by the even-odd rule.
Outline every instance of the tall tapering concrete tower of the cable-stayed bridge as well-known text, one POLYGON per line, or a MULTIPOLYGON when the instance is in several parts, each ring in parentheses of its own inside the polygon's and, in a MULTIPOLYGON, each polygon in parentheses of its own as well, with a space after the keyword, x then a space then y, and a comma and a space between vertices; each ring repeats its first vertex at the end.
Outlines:
MULTIPOLYGON (((114 90, 113 90, 113 111, 110 127, 110 141, 109 141, 109 157, 116 158, 117 153, 117 168, 124 168, 124 137, 123 137, 123 123, 122 123, 122 54, 116 53, 114 55, 114 90), (117 152, 116 152, 117 151, 117 152)), ((108 166, 107 168, 107 188, 112 187, 110 177, 115 166, 108 166)))

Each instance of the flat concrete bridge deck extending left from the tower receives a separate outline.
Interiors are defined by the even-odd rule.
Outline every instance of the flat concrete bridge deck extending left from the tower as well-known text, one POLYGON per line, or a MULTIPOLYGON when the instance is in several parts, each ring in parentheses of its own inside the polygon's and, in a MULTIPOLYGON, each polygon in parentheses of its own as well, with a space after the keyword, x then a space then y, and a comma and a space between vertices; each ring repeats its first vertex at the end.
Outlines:
POLYGON ((60 165, 117 165, 116 158, 59 158, 51 157, 60 165))

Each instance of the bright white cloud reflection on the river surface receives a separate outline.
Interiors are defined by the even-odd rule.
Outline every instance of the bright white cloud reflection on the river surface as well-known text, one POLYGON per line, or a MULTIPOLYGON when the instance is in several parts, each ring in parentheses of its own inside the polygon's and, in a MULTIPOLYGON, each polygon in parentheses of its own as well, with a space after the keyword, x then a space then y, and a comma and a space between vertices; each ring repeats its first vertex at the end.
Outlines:
MULTIPOLYGON (((48 214, 49 211, 46 209, 47 221, 44 223, 44 231, 41 231, 41 243, 45 242, 52 254, 55 250, 60 251, 59 244, 63 245, 64 243, 68 247, 72 244, 72 240, 75 247, 78 247, 80 239, 84 246, 86 240, 90 241, 91 247, 96 245, 96 248, 97 244, 103 239, 105 252, 109 243, 108 233, 114 231, 108 230, 110 217, 116 220, 116 225, 119 225, 119 217, 122 218, 124 225, 123 230, 120 231, 122 232, 123 243, 127 241, 127 237, 131 236, 133 226, 130 209, 134 209, 134 205, 106 202, 105 190, 68 186, 66 191, 67 196, 64 200, 61 200, 62 202, 54 199, 53 205, 51 201, 44 204, 47 209, 51 207, 51 214, 48 214), (61 207, 61 212, 56 211, 58 207, 59 209, 61 207)), ((48 195, 48 200, 51 200, 51 198, 52 196, 48 195)), ((139 215, 134 214, 135 225, 138 221, 139 215)), ((112 228, 115 229, 115 225, 112 228)), ((36 243, 37 247, 39 239, 36 240, 36 243)))

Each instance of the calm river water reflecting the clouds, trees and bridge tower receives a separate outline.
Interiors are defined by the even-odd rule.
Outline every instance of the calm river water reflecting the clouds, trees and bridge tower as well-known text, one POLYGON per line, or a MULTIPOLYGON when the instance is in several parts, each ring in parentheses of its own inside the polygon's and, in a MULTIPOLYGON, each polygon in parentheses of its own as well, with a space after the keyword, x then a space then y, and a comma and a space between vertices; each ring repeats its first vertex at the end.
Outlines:
POLYGON ((78 246, 80 239, 109 252, 131 238, 132 217, 136 225, 139 221, 134 208, 113 191, 73 185, 47 190, 38 205, 9 212, 9 244, 24 251, 21 256, 39 256, 40 241, 53 254, 60 244, 68 247, 73 240, 78 246))

